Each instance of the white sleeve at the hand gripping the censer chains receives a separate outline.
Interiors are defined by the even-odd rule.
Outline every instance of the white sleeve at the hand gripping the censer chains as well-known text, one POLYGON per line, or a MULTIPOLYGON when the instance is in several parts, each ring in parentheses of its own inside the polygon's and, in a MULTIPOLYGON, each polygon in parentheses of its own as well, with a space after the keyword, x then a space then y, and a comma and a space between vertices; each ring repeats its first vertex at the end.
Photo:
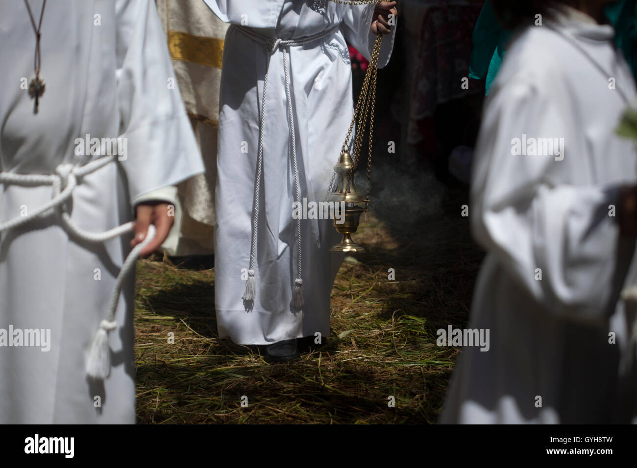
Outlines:
MULTIPOLYGON (((376 4, 370 3, 364 6, 347 5, 344 8, 341 32, 343 32, 345 40, 369 60, 376 41, 376 34, 371 32, 371 23, 373 22, 376 4)), ((392 25, 391 33, 383 34, 380 56, 378 57, 378 68, 383 68, 389 63, 392 50, 394 50, 396 27, 397 24, 392 25)))

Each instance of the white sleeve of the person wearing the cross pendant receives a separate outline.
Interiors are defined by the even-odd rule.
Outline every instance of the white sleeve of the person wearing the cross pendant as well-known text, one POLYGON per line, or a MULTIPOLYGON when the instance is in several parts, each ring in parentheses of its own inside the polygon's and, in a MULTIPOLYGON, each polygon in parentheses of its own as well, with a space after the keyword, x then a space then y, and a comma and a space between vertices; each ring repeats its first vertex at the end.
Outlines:
POLYGON ((118 0, 117 103, 131 200, 204 171, 152 0, 118 0))

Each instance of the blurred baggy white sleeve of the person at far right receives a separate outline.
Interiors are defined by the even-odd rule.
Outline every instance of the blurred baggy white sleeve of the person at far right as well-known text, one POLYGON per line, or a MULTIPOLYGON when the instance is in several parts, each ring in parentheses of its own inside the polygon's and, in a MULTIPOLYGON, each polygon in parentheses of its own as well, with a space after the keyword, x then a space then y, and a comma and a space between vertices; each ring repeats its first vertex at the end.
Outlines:
POLYGON ((581 132, 530 78, 494 88, 476 146, 469 217, 476 241, 536 301, 555 314, 596 320, 615 305, 619 225, 609 206, 617 206, 619 187, 568 183, 583 155, 512 152, 523 134, 561 136, 568 148, 581 132))

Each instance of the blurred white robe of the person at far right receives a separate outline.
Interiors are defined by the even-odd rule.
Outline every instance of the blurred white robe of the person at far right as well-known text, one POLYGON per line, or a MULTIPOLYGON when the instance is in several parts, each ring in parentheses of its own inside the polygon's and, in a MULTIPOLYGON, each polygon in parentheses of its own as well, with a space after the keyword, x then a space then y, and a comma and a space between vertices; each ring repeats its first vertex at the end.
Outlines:
POLYGON ((461 351, 443 423, 637 422, 634 309, 619 298, 634 241, 609 216, 637 182, 615 134, 634 80, 612 27, 573 10, 558 29, 592 60, 545 21, 513 42, 485 103, 469 216, 487 257, 468 327, 490 330, 490 350, 461 351), (513 155, 523 134, 564 138, 564 159, 513 155))

